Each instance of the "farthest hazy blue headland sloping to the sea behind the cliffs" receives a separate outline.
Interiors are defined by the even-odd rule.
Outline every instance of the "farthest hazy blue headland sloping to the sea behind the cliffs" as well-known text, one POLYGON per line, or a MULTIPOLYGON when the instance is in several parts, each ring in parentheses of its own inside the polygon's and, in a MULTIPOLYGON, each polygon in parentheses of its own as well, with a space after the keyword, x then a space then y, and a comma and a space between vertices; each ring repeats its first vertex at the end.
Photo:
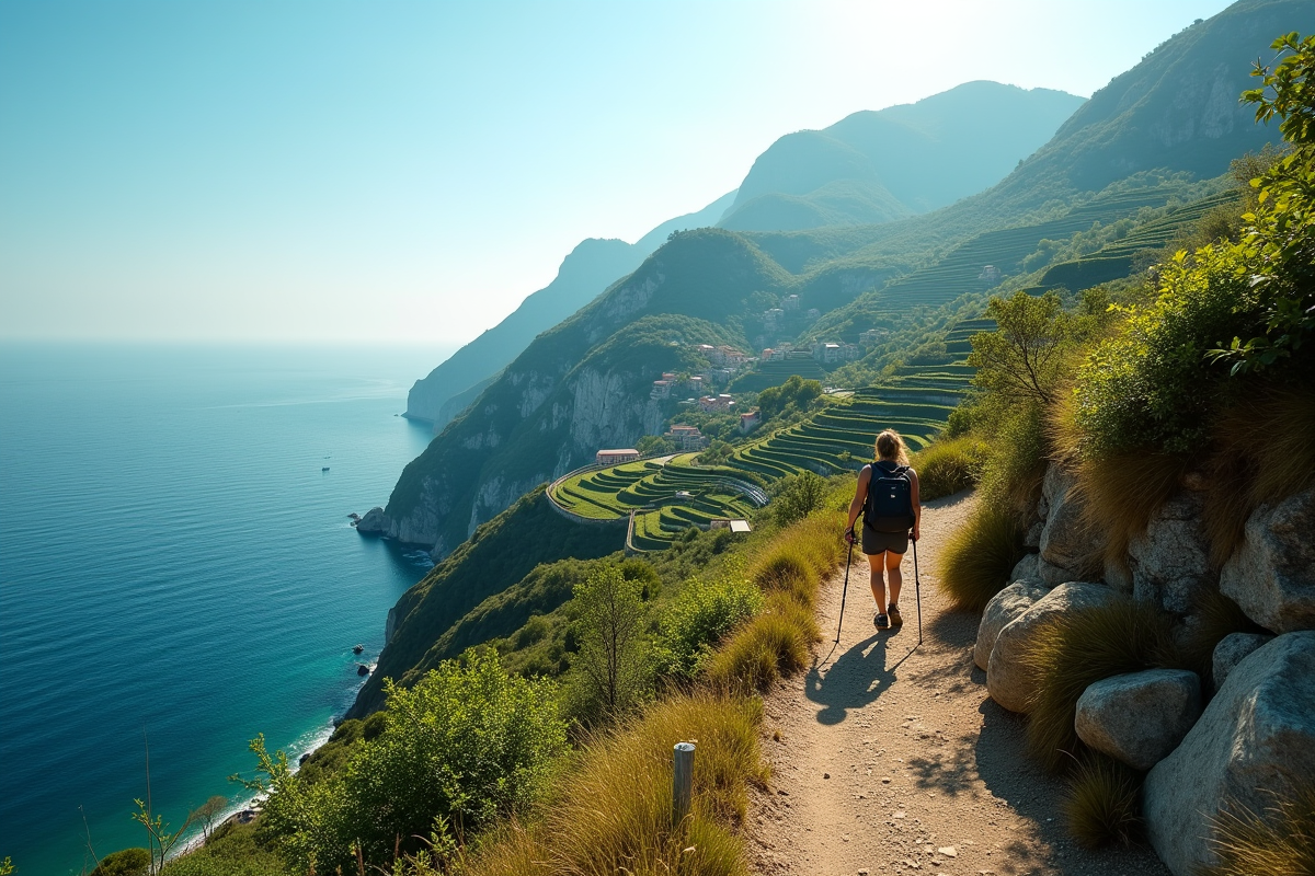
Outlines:
POLYGON ((714 225, 734 196, 731 192, 697 213, 668 219, 634 244, 597 238, 580 242, 562 261, 552 282, 530 294, 502 322, 458 349, 427 377, 416 381, 406 395, 406 416, 429 420, 441 429, 466 410, 535 335, 580 310, 610 284, 638 268, 672 231, 714 225), (452 403, 458 395, 464 405, 452 403))

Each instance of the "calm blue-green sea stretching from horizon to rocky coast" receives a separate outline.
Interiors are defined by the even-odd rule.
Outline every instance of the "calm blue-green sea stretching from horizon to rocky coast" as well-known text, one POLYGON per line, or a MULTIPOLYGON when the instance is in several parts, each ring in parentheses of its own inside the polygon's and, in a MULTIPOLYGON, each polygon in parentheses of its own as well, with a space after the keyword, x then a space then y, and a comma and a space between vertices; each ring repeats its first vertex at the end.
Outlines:
POLYGON ((0 347, 0 859, 78 873, 250 797, 351 703, 423 553, 364 538, 439 348, 0 347), (364 645, 358 658, 352 646, 364 645), (85 818, 85 822, 84 822, 85 818))

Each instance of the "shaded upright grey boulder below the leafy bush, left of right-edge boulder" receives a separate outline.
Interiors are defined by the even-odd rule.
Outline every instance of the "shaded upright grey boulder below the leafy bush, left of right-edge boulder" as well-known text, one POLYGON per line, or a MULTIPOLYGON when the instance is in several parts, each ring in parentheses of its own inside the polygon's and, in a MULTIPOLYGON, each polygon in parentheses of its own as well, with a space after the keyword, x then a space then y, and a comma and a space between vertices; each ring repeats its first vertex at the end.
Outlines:
POLYGON ((1135 599, 1186 615, 1201 591, 1214 586, 1201 508, 1199 494, 1178 493, 1160 506, 1145 532, 1128 544, 1135 599))

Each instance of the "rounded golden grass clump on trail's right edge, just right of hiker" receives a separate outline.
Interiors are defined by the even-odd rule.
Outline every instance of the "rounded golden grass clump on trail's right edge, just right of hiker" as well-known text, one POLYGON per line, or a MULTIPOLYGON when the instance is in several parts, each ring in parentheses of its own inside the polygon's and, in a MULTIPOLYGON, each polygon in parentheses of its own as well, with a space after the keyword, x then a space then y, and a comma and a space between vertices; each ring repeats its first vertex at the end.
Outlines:
POLYGON ((1009 574, 1023 553, 1018 519, 986 502, 978 503, 940 554, 940 590, 957 608, 980 612, 1009 584, 1009 574))

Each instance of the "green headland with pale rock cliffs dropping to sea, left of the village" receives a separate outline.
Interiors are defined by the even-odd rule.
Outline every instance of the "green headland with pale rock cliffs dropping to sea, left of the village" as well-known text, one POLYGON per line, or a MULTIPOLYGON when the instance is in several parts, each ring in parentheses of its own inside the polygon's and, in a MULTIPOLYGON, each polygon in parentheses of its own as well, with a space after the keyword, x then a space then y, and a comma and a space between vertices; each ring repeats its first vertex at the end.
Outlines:
POLYGON ((569 320, 544 332, 476 406, 406 466, 388 535, 443 556, 518 495, 661 427, 647 389, 693 343, 740 343, 756 293, 790 276, 729 231, 677 235, 569 320))

